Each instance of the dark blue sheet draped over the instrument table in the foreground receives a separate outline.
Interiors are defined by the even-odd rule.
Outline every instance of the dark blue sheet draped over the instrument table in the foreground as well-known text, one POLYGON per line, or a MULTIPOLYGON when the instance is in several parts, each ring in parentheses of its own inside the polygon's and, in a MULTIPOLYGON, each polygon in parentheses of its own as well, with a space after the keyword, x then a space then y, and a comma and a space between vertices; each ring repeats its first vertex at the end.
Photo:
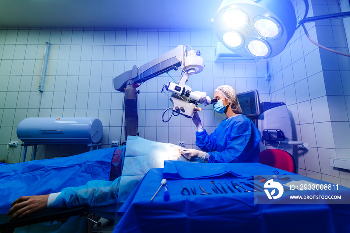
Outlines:
MULTIPOLYGON (((151 202, 150 199, 159 188, 163 175, 165 175, 164 171, 167 164, 171 163, 166 163, 164 169, 151 169, 136 187, 119 209, 118 215, 122 218, 113 233, 160 231, 201 233, 236 231, 254 233, 350 232, 349 204, 255 204, 255 197, 252 192, 213 193, 210 188, 212 180, 219 187, 219 183, 225 186, 224 183, 229 184, 230 181, 234 183, 250 182, 246 178, 238 178, 231 174, 227 175, 227 173, 222 176, 206 176, 206 178, 199 179, 167 178, 170 200, 164 201, 165 188, 162 187, 151 202), (202 191, 199 189, 199 185, 206 192, 213 194, 200 195, 202 191), (181 195, 184 186, 189 190, 191 190, 191 187, 195 187, 196 195, 193 195, 192 192, 188 196, 181 195)), ((188 169, 185 173, 189 175, 190 173, 197 173, 199 168, 203 169, 202 165, 190 163, 190 166, 183 168, 188 169)), ((220 167, 223 164, 215 165, 220 167)), ((250 166, 246 166, 245 170, 238 171, 236 167, 237 170, 234 173, 241 175, 241 172, 249 172, 251 175, 266 175, 266 171, 259 173, 264 167, 269 170, 270 174, 276 170, 265 165, 250 163, 250 166), (260 171, 257 171, 258 169, 260 171)), ((210 166, 210 168, 202 170, 200 176, 203 176, 205 171, 210 173, 212 168, 210 166)), ((294 175, 292 176, 293 179, 298 177, 299 179, 316 182, 316 180, 305 176, 286 171, 285 173, 288 176, 294 175)), ((191 176, 193 178, 195 175, 191 176)), ((325 183, 320 180, 317 182, 325 183)), ((342 189, 345 190, 347 197, 350 196, 350 189, 345 187, 342 187, 342 189)), ((230 192, 228 189, 227 191, 230 192)), ((265 195, 265 193, 259 192, 259 195, 265 195)))

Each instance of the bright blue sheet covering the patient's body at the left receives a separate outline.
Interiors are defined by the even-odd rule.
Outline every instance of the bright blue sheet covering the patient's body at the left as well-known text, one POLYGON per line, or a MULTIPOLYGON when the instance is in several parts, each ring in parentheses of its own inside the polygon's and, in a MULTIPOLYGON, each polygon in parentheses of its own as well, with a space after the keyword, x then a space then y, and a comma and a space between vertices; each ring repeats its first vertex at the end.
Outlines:
POLYGON ((10 204, 21 196, 60 192, 90 180, 109 181, 114 150, 0 166, 0 214, 7 213, 10 204))

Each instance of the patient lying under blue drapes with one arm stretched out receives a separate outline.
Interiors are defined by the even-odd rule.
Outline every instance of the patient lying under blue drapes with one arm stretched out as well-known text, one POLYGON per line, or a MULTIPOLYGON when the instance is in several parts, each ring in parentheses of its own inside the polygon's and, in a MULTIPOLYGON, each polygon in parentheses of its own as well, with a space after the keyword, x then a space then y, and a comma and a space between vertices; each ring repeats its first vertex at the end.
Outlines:
MULTIPOLYGON (((126 146, 115 150, 100 149, 72 157, 14 164, 17 166, 16 171, 12 170, 12 175, 7 175, 12 178, 7 180, 11 181, 12 188, 7 188, 8 193, 1 196, 8 197, 8 201, 12 202, 26 191, 30 194, 13 201, 11 204, 13 207, 8 211, 8 215, 12 215, 11 220, 47 207, 79 205, 89 205, 92 212, 106 219, 112 219, 115 216, 116 203, 126 200, 149 169, 163 167, 164 160, 188 161, 181 156, 180 149, 181 147, 173 144, 130 136, 126 146), (32 172, 28 168, 39 163, 42 163, 41 168, 49 165, 49 171, 42 172, 41 169, 32 172), (20 169, 20 165, 24 168, 20 169), (94 175, 91 176, 91 172, 94 175), (30 183, 32 186, 24 185, 24 190, 20 188, 21 191, 17 193, 16 187, 20 186, 20 182, 24 177, 29 177, 29 174, 35 178, 32 183, 28 181, 26 184, 30 183), (20 179, 19 183, 16 179, 20 179)), ((197 159, 197 162, 200 162, 199 160, 197 159)), ((10 166, 12 165, 0 167, 0 171, 10 174, 11 172, 4 170, 11 170, 10 166)), ((0 185, 6 183, 8 186, 6 179, 0 176, 0 185)), ((10 202, 0 206, 2 213, 4 209, 9 208, 10 202)))

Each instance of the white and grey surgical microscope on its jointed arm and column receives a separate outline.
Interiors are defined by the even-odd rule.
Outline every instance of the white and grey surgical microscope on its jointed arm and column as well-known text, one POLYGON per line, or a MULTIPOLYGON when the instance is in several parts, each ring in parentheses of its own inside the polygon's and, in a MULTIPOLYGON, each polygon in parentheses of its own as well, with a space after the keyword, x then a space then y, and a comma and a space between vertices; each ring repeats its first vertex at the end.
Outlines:
POLYGON ((114 88, 125 93, 126 138, 128 135, 138 135, 137 94, 139 94, 139 90, 136 88, 153 77, 167 73, 170 70, 178 70, 179 68, 182 69, 182 72, 178 83, 169 82, 163 86, 163 89, 165 88, 172 93, 170 101, 173 104, 173 114, 192 118, 196 111, 201 110, 198 107, 198 103, 206 106, 217 101, 215 98, 211 99, 206 96, 205 92, 192 91, 186 85, 189 75, 203 71, 204 59, 200 56, 200 51, 195 51, 192 48, 188 51, 187 46, 179 45, 140 67, 134 65, 132 70, 126 71, 113 79, 114 88))

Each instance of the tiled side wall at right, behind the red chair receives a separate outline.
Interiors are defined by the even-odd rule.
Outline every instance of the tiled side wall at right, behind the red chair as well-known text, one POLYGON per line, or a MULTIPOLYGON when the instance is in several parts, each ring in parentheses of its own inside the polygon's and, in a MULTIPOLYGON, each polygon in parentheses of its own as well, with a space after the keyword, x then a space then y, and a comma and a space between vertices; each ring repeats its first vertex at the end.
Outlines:
MULTIPOLYGON (((308 16, 340 12, 337 0, 312 0, 308 16)), ((299 17, 303 0, 293 4, 299 17)), ((318 43, 348 53, 342 19, 305 24, 318 43)), ((299 28, 282 53, 269 61, 272 101, 285 102, 293 139, 308 144, 294 150, 298 173, 350 186, 350 173, 330 166, 329 158, 350 157, 350 58, 312 44, 299 28)))

